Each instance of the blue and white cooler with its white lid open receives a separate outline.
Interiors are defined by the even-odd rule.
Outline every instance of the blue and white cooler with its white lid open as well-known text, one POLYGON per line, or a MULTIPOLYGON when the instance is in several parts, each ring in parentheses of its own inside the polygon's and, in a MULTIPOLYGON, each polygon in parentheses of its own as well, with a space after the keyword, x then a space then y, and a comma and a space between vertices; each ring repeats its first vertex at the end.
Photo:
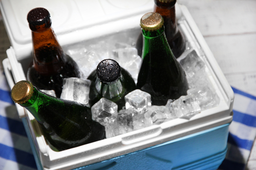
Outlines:
MULTIPOLYGON (((32 61, 31 31, 27 13, 36 7, 49 10, 52 27, 63 50, 82 43, 128 32, 136 38, 140 18, 152 12, 154 1, 55 0, 0 2, 6 30, 11 42, 8 58, 3 61, 10 87, 26 80, 32 61)), ((208 79, 219 97, 219 104, 189 118, 176 118, 55 152, 47 144, 34 117, 16 105, 25 126, 38 169, 217 169, 227 152, 228 127, 232 121, 234 93, 203 36, 185 6, 176 4, 178 27, 205 62, 208 79)), ((125 39, 126 38, 126 39, 125 39)), ((71 56, 72 57, 72 56, 71 56)))

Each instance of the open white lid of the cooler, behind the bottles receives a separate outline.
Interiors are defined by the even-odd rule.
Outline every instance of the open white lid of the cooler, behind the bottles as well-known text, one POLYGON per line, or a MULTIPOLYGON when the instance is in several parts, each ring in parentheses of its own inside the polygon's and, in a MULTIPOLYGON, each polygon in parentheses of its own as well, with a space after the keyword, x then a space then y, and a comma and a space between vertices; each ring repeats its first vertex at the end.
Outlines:
MULTIPOLYGON (((64 42, 70 33, 76 33, 80 30, 102 26, 101 30, 105 34, 105 25, 111 25, 113 21, 126 20, 135 17, 131 22, 127 21, 126 27, 139 27, 140 17, 153 10, 154 1, 152 0, 2 0, 1 11, 7 33, 9 35, 17 58, 28 54, 24 52, 31 48, 31 31, 29 29, 27 14, 37 7, 46 8, 52 19, 52 27, 61 45, 70 42, 64 42), (27 49, 25 46, 30 44, 27 49), (24 49, 26 48, 26 50, 24 49), (17 53, 19 52, 19 53, 17 53), (20 54, 22 53, 22 54, 20 54), (26 53, 26 54, 24 54, 26 53)), ((115 25, 115 24, 114 24, 115 25)), ((122 25, 120 22, 119 25, 122 25)), ((113 29, 119 31, 124 26, 115 25, 113 29), (117 27, 117 28, 116 28, 117 27)), ((97 29, 90 30, 89 37, 95 37, 99 32, 97 29), (93 31, 94 30, 94 31, 93 31), (97 31, 97 32, 96 32, 97 31)), ((110 30, 109 30, 110 32, 110 30)), ((113 31, 112 31, 113 32, 113 31)), ((82 33, 82 32, 81 32, 82 33)), ((100 34, 100 33, 99 33, 100 34)), ((75 34, 73 34, 75 35, 75 34)), ((80 41, 73 36, 73 42, 80 41)), ((84 37, 87 38, 87 37, 84 37)), ((69 38, 70 40, 70 38, 69 38)), ((29 52, 30 53, 30 52, 29 52)))

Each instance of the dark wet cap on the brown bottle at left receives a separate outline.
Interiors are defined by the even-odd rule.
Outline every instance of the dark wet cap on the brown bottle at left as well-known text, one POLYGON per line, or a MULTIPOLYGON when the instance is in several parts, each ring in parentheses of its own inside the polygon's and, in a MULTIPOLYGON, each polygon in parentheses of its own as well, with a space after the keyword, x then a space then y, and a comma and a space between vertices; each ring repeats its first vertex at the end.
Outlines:
POLYGON ((42 25, 47 23, 50 19, 50 13, 45 8, 34 8, 32 9, 27 16, 27 20, 32 25, 42 25))

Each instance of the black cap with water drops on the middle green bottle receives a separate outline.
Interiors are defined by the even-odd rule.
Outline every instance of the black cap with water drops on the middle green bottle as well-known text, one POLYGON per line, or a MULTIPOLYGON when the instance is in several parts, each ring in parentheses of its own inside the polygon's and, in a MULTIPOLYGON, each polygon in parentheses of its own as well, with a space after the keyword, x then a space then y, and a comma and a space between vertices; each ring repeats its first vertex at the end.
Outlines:
POLYGON ((97 76, 101 82, 113 82, 120 77, 121 67, 112 59, 102 60, 97 66, 97 76))

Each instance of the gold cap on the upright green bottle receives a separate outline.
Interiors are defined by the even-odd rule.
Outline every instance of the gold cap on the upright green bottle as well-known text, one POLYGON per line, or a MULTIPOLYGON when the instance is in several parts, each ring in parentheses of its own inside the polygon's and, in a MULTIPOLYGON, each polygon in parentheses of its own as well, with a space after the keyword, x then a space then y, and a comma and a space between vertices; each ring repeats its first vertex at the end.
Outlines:
POLYGON ((140 27, 145 31, 156 31, 163 27, 163 18, 159 13, 148 12, 141 17, 140 27))

